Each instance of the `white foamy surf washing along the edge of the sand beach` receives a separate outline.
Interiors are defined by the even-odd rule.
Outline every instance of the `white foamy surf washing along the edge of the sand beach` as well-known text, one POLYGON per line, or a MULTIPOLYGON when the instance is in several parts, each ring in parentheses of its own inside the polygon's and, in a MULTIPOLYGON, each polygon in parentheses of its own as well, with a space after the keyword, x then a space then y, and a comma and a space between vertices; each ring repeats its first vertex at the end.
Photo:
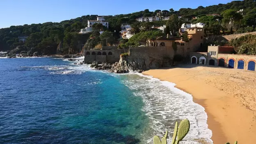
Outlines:
POLYGON ((206 112, 201 105, 192 101, 190 94, 175 88, 174 83, 160 81, 140 73, 138 75, 143 78, 130 76, 123 80, 123 83, 134 90, 136 96, 143 98, 143 110, 151 121, 147 143, 152 143, 153 135, 162 137, 166 129, 172 132, 175 121, 186 118, 190 120, 190 131, 181 144, 199 144, 198 139, 203 139, 208 144, 213 143, 210 139, 212 132, 206 123, 206 112))

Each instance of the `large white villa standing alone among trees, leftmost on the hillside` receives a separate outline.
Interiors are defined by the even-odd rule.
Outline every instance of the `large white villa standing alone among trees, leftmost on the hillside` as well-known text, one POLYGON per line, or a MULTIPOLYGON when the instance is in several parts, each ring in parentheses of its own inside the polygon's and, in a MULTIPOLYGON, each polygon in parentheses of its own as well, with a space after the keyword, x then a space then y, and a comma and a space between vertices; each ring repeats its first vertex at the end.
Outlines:
POLYGON ((104 25, 105 27, 108 28, 108 22, 105 21, 105 19, 101 16, 97 17, 97 20, 88 20, 88 25, 87 27, 83 28, 80 30, 80 34, 87 34, 88 32, 92 31, 92 25, 94 25, 95 23, 102 23, 102 25, 104 25))

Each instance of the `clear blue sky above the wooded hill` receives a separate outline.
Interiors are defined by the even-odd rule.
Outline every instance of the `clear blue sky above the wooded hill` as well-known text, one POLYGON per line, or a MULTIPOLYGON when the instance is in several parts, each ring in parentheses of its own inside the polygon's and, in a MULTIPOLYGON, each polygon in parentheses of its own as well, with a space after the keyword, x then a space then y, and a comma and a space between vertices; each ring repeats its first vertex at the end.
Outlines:
POLYGON ((197 8, 232 0, 0 0, 0 28, 60 22, 84 15, 128 14, 149 9, 197 8))

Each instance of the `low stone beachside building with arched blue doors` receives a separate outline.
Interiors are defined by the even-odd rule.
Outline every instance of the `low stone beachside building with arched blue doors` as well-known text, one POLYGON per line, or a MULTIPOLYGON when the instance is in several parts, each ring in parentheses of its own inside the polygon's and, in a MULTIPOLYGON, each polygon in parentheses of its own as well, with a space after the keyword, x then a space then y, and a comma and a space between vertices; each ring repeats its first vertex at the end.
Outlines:
POLYGON ((207 64, 256 71, 256 55, 236 55, 228 46, 208 46, 207 53, 190 53, 191 64, 207 64))

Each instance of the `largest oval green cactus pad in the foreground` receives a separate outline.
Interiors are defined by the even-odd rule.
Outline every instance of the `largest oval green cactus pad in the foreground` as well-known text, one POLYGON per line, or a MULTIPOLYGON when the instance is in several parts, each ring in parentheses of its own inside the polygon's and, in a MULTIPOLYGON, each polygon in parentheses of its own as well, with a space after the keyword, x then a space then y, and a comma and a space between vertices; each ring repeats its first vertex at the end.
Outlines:
MULTIPOLYGON (((178 127, 178 135, 177 135, 177 141, 181 141, 188 133, 190 129, 190 122, 188 119, 184 119, 181 121, 180 126, 178 127)), ((177 144, 178 144, 177 142, 177 144)))

